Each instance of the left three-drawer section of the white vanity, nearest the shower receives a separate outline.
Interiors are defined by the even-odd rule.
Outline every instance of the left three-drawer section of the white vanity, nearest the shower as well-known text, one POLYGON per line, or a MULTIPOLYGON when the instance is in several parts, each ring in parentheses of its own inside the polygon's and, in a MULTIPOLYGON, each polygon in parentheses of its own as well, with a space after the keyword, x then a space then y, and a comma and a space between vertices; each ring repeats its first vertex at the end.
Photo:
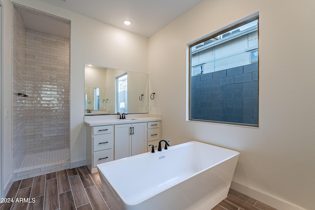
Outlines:
POLYGON ((87 166, 91 173, 96 165, 114 160, 114 126, 87 126, 87 166))

